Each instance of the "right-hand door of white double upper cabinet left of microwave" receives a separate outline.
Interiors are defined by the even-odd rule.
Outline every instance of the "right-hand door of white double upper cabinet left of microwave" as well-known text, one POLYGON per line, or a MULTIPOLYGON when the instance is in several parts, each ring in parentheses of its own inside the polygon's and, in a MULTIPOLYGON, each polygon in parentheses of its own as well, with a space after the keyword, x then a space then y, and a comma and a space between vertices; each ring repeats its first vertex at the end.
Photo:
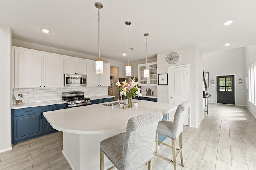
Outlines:
POLYGON ((64 57, 44 54, 43 86, 64 86, 64 57))

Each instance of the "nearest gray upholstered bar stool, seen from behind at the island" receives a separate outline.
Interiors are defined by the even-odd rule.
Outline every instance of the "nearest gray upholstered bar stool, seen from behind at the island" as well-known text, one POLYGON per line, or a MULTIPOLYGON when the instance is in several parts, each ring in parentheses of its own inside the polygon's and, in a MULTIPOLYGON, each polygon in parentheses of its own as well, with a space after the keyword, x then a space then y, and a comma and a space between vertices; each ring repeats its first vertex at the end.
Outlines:
POLYGON ((154 140, 160 112, 146 113, 128 120, 126 132, 100 142, 100 170, 104 170, 104 154, 114 164, 112 170, 136 170, 148 162, 152 170, 154 140))

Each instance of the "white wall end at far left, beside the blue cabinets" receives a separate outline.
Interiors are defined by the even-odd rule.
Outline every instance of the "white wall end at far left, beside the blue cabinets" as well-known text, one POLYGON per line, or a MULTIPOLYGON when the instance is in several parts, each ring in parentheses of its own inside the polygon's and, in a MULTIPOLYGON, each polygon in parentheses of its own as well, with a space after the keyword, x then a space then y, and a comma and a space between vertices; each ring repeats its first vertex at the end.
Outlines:
POLYGON ((11 148, 11 29, 0 25, 0 152, 11 148))

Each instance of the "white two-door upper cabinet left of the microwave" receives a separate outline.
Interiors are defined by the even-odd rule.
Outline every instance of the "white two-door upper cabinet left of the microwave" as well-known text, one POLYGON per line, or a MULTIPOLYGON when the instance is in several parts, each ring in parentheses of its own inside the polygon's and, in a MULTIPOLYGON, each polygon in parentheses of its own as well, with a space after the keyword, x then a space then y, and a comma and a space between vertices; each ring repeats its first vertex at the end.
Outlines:
POLYGON ((14 49, 14 87, 64 86, 64 57, 31 49, 14 49))

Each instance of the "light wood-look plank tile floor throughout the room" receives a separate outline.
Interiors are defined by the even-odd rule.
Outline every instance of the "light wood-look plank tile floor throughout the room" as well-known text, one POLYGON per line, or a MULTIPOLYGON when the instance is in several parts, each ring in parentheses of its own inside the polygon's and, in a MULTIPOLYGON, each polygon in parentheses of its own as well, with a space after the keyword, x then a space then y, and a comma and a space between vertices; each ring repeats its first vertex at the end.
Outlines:
MULTIPOLYGON (((212 104, 200 126, 184 126, 182 134, 184 167, 178 158, 178 170, 256 170, 256 119, 244 106, 212 104)), ((0 153, 0 170, 71 170, 62 149, 62 132, 18 143, 0 153)), ((172 158, 163 145, 158 153, 172 158)), ((153 169, 173 165, 154 156, 153 169)))

